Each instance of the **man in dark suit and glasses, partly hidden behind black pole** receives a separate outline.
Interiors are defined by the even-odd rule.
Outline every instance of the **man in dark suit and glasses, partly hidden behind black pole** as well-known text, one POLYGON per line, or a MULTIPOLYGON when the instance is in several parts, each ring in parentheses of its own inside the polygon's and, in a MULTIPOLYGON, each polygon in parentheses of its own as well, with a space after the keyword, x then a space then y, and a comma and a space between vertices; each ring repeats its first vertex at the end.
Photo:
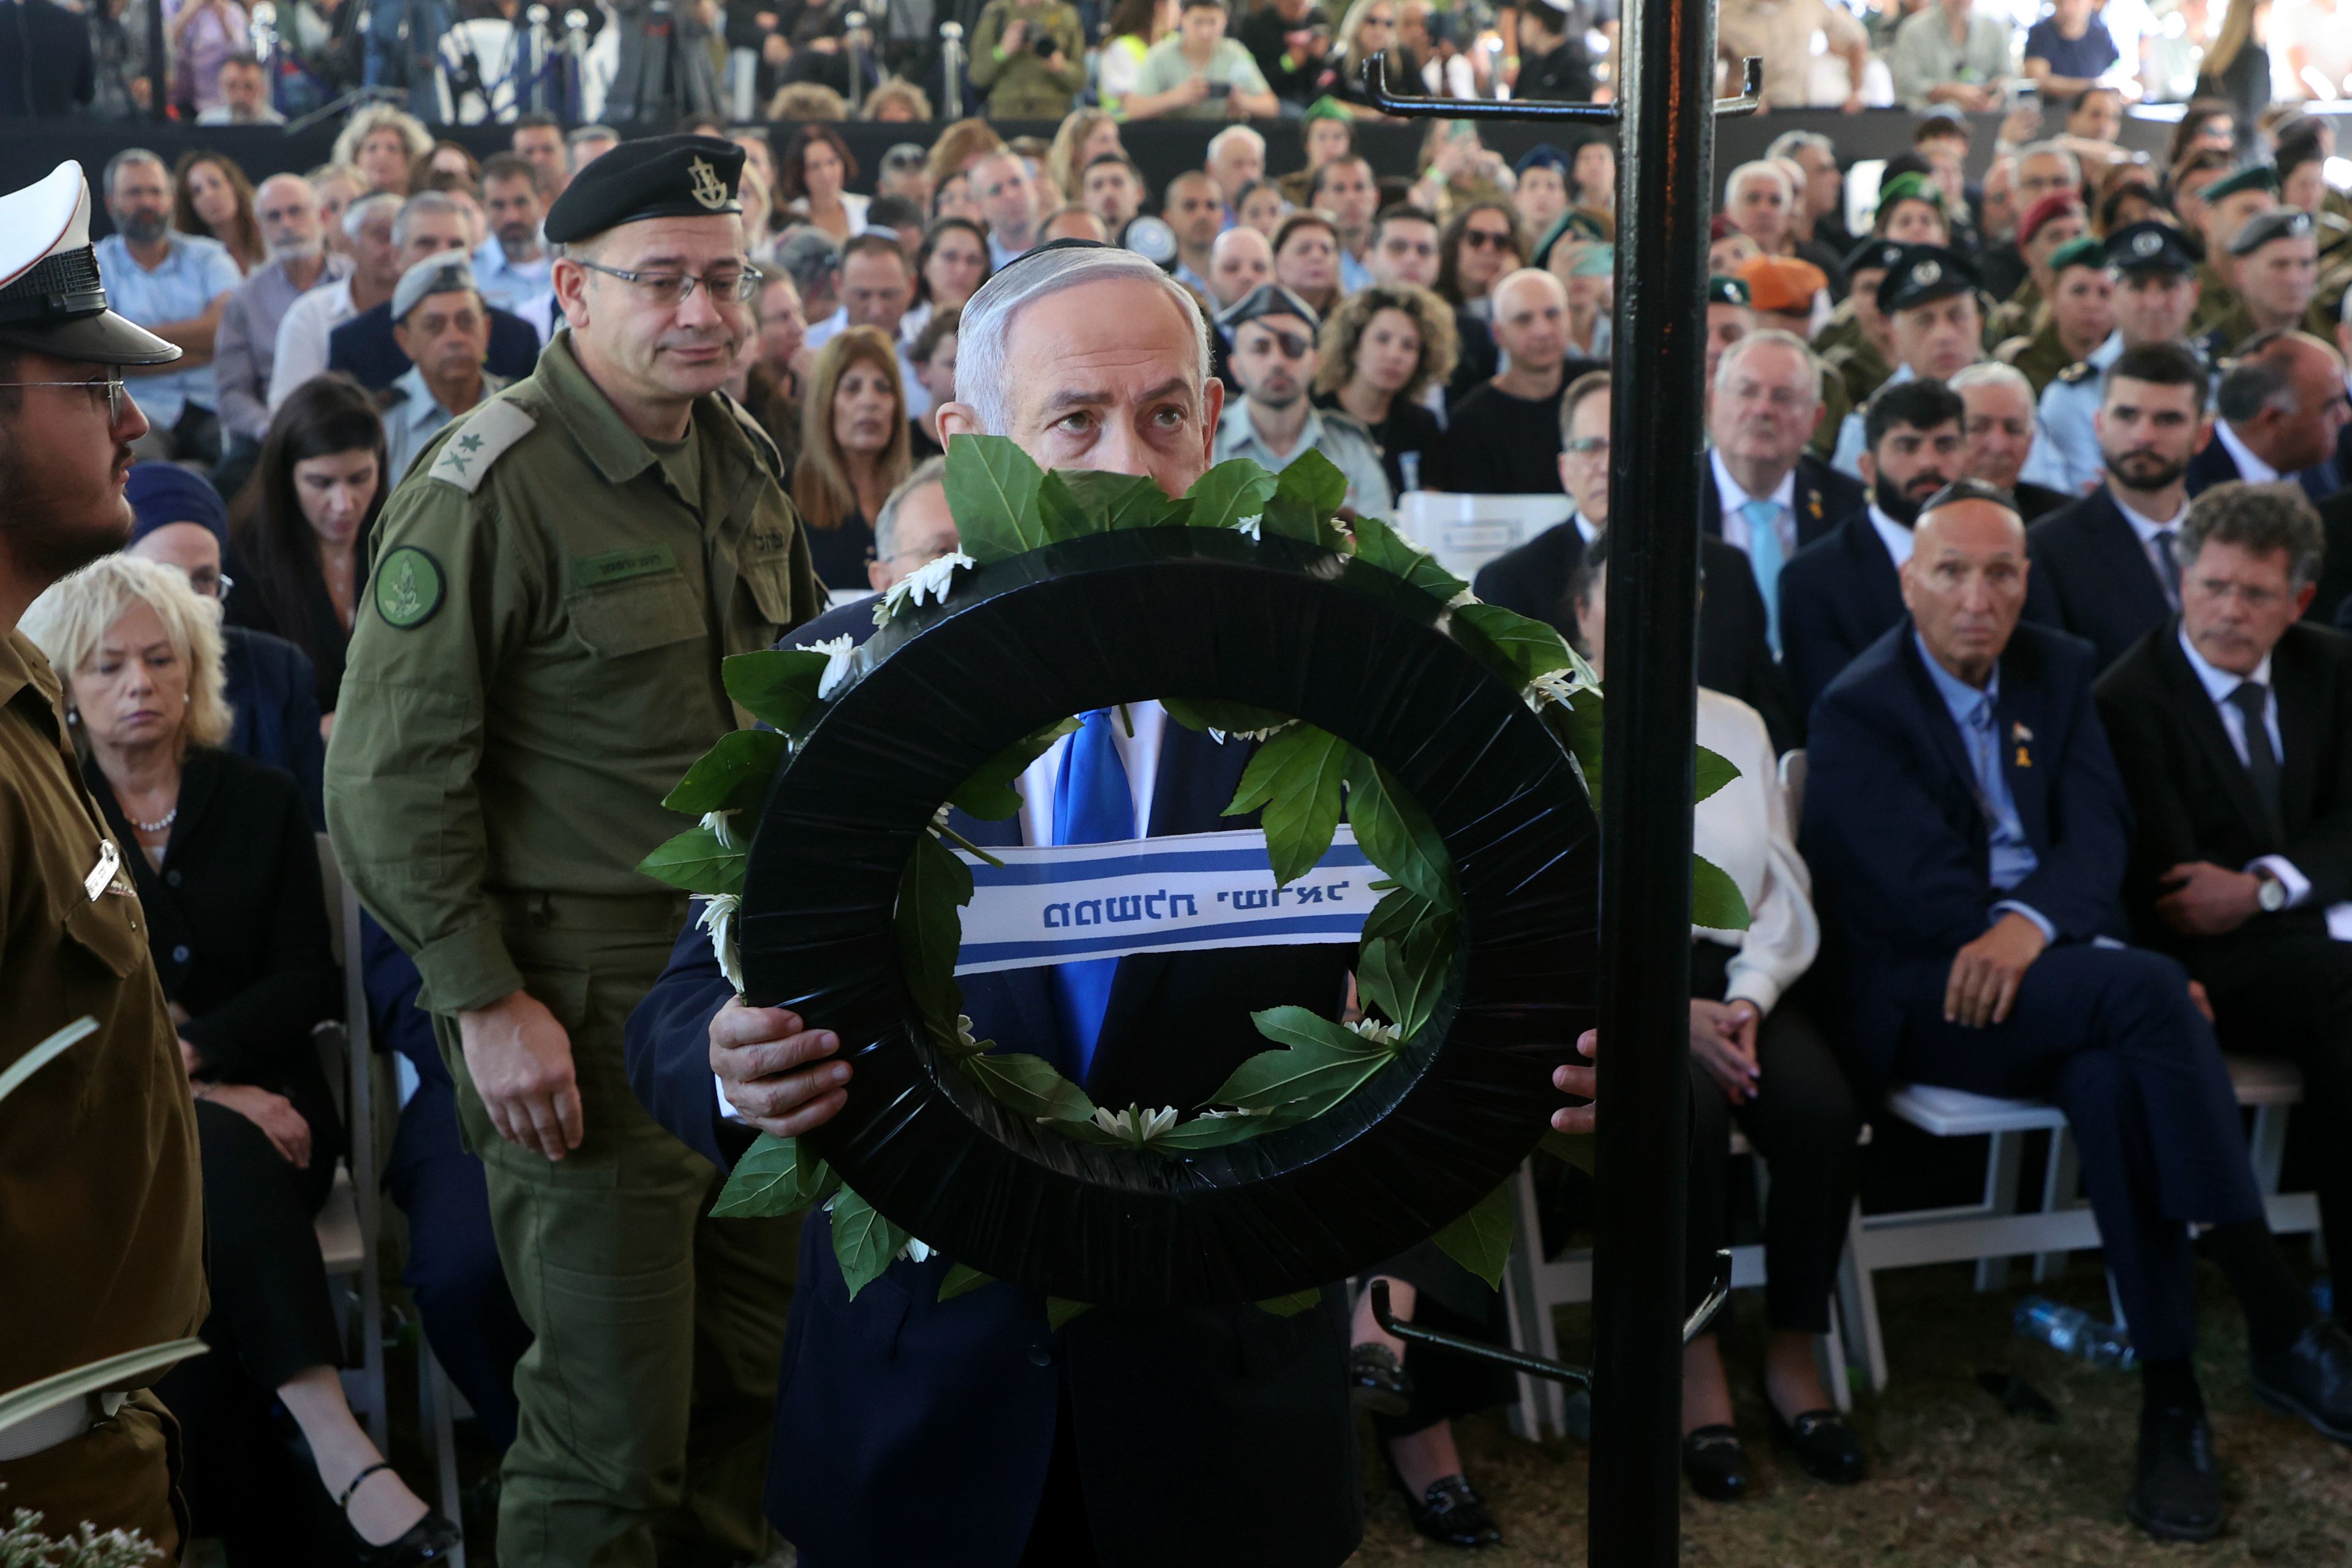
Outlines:
MULTIPOLYGON (((1548 621, 1562 637, 1576 637, 1569 585, 1585 545, 1609 527, 1609 371, 1588 371, 1569 383, 1559 397, 1559 487, 1573 505, 1569 520, 1479 567, 1470 590, 1489 604, 1548 621)), ((1851 484, 1813 465, 1830 480, 1851 484)), ((1736 696, 1764 715, 1776 750, 1797 745, 1797 715, 1788 701, 1788 679, 1766 644, 1764 599, 1748 557, 1722 538, 1705 536, 1698 541, 1698 684, 1736 696)))

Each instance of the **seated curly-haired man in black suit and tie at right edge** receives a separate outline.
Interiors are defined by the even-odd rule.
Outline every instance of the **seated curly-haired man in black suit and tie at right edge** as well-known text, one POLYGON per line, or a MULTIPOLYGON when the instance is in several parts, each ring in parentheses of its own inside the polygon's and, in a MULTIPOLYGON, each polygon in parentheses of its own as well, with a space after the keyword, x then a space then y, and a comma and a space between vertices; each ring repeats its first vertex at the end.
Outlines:
MULTIPOLYGON (((2209 489, 2180 534, 2180 618, 2098 682, 2131 790, 2124 907, 2213 999, 2220 1041, 2303 1065, 2352 1112, 2352 637, 2296 621, 2319 520, 2279 484, 2209 489)), ((2352 1258, 2352 1140, 2314 1138, 2331 1258, 2352 1258)), ((2352 1316, 2352 1300, 2338 1321, 2352 1316)))

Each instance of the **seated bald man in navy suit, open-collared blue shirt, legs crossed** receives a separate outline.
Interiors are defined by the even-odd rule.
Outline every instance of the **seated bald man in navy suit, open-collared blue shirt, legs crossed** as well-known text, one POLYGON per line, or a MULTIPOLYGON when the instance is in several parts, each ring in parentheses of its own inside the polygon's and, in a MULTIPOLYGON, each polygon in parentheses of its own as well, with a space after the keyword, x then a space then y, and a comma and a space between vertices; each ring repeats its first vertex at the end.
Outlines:
POLYGON ((2190 1361, 2187 1225, 2211 1227, 2267 1403, 2352 1439, 2352 1340, 2270 1239, 2187 973, 2112 943, 2131 809, 2091 708, 2093 651, 2018 625, 2027 571, 1999 491, 1962 482, 1922 508, 1907 618, 1813 710, 1804 858, 1865 1100, 1943 1084, 2065 1110, 2145 1371, 2126 1507, 2150 1535, 2209 1540, 2220 1479, 2190 1361))

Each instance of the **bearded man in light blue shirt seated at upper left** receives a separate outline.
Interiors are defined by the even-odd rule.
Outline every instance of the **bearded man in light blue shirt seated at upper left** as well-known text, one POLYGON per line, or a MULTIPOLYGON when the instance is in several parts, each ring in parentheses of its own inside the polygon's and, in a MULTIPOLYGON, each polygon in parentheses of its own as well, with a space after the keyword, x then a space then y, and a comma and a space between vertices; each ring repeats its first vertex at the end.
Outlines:
POLYGON ((115 313, 139 322, 179 357, 127 367, 148 430, 139 458, 212 463, 221 456, 219 388, 212 346, 221 306, 238 287, 238 263, 219 240, 172 230, 172 172, 146 148, 125 148, 106 162, 106 216, 115 233, 96 244, 99 270, 115 313))

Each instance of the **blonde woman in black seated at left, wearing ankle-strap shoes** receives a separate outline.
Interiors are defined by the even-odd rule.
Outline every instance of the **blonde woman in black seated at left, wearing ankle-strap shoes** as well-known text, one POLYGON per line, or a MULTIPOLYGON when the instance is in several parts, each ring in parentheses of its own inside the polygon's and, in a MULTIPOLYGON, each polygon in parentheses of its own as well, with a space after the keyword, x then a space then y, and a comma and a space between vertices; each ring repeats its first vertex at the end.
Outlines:
MULTIPOLYGON (((310 1030, 336 1016, 318 846, 294 778, 221 748, 221 607, 160 562, 111 555, 24 616, 66 684, 82 778, 125 851, 179 1025, 205 1168, 209 1356, 165 1382, 188 1427, 200 1528, 278 1561, 313 1509, 254 1497, 256 1453, 223 1427, 280 1401, 360 1563, 430 1563, 459 1540, 353 1420, 313 1220, 341 1128, 310 1030)), ((289 1559, 292 1561, 292 1559, 289 1559)), ((322 1561, 313 1556, 310 1561, 322 1561)))

